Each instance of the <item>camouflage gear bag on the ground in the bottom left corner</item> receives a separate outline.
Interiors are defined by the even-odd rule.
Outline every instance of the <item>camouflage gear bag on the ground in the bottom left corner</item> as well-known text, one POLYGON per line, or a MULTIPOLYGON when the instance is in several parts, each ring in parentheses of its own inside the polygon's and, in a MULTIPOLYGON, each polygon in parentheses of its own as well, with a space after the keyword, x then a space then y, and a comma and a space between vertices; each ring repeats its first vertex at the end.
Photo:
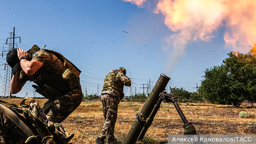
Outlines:
POLYGON ((48 121, 33 98, 24 98, 20 106, 0 100, 0 144, 68 144, 73 136, 61 124, 48 121))

